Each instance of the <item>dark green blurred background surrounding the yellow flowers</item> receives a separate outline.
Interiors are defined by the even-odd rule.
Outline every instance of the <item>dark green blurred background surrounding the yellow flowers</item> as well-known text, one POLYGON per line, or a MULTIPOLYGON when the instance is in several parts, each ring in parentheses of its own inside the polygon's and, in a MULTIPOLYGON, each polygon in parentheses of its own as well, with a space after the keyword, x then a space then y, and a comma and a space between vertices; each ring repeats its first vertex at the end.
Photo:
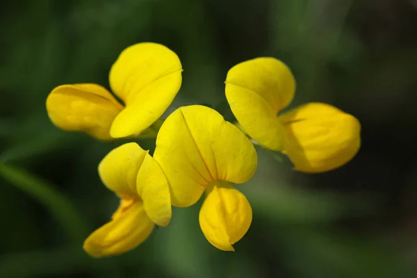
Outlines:
POLYGON ((416 277, 416 0, 1 1, 0 22, 0 277, 416 277), (358 117, 359 154, 302 174, 258 149, 238 187, 254 219, 234 253, 206 241, 199 202, 132 252, 88 257, 84 238, 118 204, 97 164, 121 142, 60 131, 44 102, 64 83, 108 87, 120 51, 145 41, 183 63, 167 113, 206 104, 233 120, 227 70, 274 56, 295 74, 291 107, 358 117))

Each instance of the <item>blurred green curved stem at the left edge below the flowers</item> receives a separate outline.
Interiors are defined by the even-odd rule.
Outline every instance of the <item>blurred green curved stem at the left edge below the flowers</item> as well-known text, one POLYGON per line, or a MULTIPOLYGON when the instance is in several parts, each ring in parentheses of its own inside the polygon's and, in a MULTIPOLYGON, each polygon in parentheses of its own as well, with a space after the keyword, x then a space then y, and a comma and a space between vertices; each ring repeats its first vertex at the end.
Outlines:
POLYGON ((19 167, 0 162, 0 176, 42 204, 60 222, 71 240, 79 245, 87 228, 70 201, 46 181, 19 167))

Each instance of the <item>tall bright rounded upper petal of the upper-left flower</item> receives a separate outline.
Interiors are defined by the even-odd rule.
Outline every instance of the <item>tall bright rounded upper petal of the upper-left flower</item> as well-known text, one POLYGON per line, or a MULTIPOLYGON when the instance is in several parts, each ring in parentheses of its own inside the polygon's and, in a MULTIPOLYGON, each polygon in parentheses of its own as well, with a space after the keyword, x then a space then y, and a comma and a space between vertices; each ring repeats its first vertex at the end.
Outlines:
POLYGON ((110 85, 126 104, 111 126, 111 136, 140 133, 158 120, 181 87, 181 62, 161 44, 145 42, 122 51, 111 67, 110 85))

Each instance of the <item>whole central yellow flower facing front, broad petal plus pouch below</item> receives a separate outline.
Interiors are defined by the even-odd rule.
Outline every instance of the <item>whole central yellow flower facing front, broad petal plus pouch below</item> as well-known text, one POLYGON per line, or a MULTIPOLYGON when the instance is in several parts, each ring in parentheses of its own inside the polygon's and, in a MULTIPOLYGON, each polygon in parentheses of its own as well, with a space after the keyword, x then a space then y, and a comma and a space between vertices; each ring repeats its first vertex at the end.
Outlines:
POLYGON ((207 240, 233 251, 252 222, 245 195, 230 183, 244 183, 256 170, 256 151, 246 136, 205 106, 172 113, 159 130, 154 158, 170 184, 174 206, 191 206, 204 191, 199 224, 207 240))

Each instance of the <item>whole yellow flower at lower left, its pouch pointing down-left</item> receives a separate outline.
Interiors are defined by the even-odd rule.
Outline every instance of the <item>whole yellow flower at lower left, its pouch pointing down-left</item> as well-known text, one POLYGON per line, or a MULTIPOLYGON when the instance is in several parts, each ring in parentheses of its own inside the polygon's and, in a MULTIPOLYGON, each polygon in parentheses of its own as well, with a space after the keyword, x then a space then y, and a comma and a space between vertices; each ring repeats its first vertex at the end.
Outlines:
POLYGON ((113 149, 99 164, 106 187, 120 197, 112 219, 84 242, 91 256, 113 256, 132 250, 151 234, 154 224, 171 219, 170 188, 161 167, 131 142, 113 149))

